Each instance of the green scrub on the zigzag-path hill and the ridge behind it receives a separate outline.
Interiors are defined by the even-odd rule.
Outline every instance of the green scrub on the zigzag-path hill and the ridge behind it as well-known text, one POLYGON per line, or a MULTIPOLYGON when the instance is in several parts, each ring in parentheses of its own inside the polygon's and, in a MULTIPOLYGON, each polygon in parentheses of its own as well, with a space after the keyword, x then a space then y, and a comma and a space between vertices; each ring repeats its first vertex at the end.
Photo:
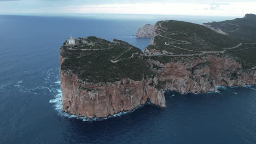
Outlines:
MULTIPOLYGON (((233 24, 235 22, 238 23, 232 24, 232 26, 241 24, 241 26, 246 27, 250 25, 247 27, 248 31, 251 29, 251 36, 253 35, 256 38, 256 29, 254 29, 256 28, 256 25, 254 25, 256 23, 256 15, 247 15, 243 19, 224 21, 227 28, 232 29, 232 26, 229 27, 230 22, 233 24), (254 24, 252 25, 252 23, 254 24)), ((214 25, 214 23, 216 22, 211 23, 211 25, 214 25)), ((222 28, 225 28, 224 24, 219 23, 219 25, 223 26, 222 28)), ((223 35, 205 26, 182 21, 159 21, 156 25, 158 25, 158 29, 156 29, 157 35, 154 37, 154 44, 149 45, 147 49, 151 53, 170 55, 150 57, 156 61, 161 63, 189 62, 194 59, 202 59, 206 55, 224 55, 236 59, 238 63, 242 64, 243 69, 251 69, 256 66, 256 40, 241 39, 246 37, 242 33, 237 33, 238 35, 241 34, 241 37, 235 34, 231 34, 231 36, 223 35), (235 46, 237 47, 232 48, 235 46), (204 54, 202 55, 202 53, 204 54)), ((238 29, 237 31, 240 30, 238 29)), ((247 33, 247 31, 243 32, 247 33)))

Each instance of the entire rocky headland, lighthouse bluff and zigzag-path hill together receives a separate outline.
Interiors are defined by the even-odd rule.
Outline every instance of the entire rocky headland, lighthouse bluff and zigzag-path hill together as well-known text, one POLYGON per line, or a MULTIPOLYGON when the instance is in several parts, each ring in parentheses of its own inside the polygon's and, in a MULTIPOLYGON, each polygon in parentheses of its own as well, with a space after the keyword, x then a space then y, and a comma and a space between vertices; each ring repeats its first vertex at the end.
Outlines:
POLYGON ((256 45, 214 29, 159 21, 142 52, 125 41, 75 39, 60 49, 62 110, 107 117, 150 101, 165 107, 164 91, 211 92, 256 84, 256 45))

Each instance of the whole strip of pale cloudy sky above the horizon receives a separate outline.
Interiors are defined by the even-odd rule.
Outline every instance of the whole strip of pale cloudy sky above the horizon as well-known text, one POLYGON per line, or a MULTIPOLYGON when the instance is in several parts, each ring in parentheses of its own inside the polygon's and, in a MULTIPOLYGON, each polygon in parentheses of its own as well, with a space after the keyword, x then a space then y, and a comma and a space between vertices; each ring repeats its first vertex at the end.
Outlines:
POLYGON ((0 13, 110 13, 243 16, 255 0, 0 0, 0 13))

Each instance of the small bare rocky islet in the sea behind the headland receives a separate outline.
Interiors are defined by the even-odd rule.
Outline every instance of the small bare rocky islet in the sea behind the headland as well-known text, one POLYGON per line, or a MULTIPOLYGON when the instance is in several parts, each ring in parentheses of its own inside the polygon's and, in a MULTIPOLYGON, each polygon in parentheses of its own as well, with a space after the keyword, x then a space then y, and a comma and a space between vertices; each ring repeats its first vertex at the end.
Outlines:
POLYGON ((138 38, 150 38, 153 36, 154 26, 153 25, 145 25, 143 27, 138 28, 136 37, 138 38))

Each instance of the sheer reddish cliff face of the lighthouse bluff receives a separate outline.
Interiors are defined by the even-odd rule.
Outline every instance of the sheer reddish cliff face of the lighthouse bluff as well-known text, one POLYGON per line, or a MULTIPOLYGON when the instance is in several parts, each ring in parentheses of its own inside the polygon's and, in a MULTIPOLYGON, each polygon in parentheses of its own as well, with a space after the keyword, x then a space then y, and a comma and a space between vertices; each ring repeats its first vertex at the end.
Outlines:
MULTIPOLYGON (((62 63, 60 56, 60 63, 62 63)), ((162 90, 154 88, 157 78, 134 81, 122 79, 114 83, 88 83, 78 76, 60 70, 62 110, 72 115, 107 117, 123 111, 131 111, 150 101, 165 107, 162 90)))

